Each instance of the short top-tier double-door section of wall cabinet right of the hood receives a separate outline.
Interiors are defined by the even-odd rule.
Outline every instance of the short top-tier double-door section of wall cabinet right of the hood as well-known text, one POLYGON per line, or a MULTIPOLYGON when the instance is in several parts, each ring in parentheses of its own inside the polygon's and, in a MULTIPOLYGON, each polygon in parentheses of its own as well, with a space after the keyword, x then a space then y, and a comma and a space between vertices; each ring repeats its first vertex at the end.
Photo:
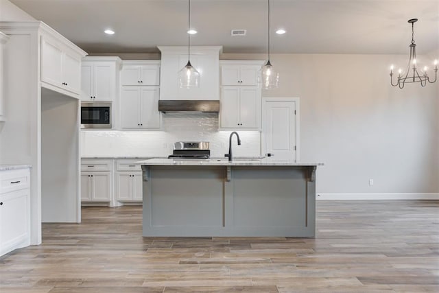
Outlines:
POLYGON ((222 86, 257 86, 263 61, 220 61, 222 86))

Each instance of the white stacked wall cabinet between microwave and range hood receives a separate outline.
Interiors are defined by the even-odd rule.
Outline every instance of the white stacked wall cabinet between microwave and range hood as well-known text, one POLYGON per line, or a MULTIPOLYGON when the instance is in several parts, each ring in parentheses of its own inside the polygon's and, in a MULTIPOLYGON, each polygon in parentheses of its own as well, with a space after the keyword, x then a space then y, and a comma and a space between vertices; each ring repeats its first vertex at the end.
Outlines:
POLYGON ((122 129, 157 130, 160 128, 159 72, 160 62, 158 61, 123 62, 119 104, 122 129))

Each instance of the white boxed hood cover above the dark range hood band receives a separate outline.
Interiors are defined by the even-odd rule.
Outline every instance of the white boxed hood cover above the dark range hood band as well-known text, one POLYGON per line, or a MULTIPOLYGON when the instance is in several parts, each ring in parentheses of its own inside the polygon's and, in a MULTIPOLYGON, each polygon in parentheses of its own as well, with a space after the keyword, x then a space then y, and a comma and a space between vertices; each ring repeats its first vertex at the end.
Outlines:
POLYGON ((191 65, 200 86, 180 88, 178 71, 187 64, 187 47, 158 47, 162 54, 160 99, 219 99, 219 51, 222 47, 191 47, 191 65))

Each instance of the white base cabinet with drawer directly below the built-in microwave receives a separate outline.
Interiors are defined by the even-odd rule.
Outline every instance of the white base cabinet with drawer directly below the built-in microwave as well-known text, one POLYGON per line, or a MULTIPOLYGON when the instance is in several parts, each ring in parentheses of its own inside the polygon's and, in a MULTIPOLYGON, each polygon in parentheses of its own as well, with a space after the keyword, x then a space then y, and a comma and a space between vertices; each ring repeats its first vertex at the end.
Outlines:
POLYGON ((111 160, 81 160, 81 202, 110 202, 111 160))

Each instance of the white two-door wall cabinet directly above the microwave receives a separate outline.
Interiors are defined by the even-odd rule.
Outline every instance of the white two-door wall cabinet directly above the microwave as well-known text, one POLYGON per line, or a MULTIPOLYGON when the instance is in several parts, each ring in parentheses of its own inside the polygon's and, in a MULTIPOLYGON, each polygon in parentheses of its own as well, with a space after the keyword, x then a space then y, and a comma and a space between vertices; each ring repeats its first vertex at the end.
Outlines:
POLYGON ((113 101, 117 97, 119 57, 82 58, 81 99, 83 101, 113 101))

